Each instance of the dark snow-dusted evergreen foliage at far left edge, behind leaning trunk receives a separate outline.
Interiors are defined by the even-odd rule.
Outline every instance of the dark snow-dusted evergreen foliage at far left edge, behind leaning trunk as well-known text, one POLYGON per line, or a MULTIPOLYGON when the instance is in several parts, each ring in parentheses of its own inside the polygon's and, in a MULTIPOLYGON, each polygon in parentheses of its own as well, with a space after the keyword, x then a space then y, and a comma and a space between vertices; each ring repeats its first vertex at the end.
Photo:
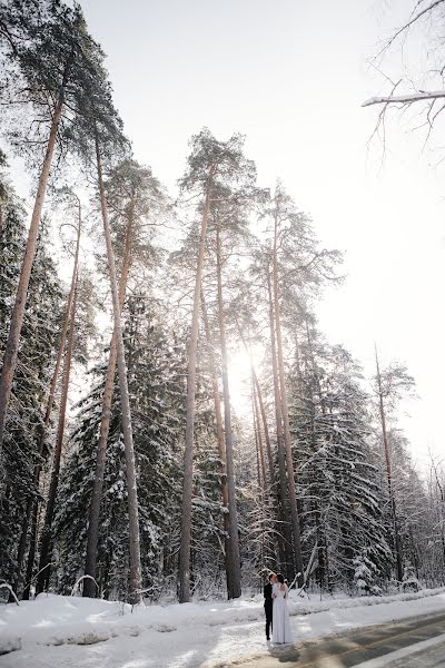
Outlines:
MULTIPOLYGON (((8 204, 0 229, 0 354, 4 351, 8 325, 26 243, 23 210, 7 188, 8 204)), ((27 502, 40 498, 33 481, 39 460, 38 441, 51 380, 51 367, 62 317, 61 284, 48 250, 43 225, 37 244, 30 291, 14 376, 11 407, 4 434, 4 494, 0 500, 0 577, 17 578, 17 550, 27 502)), ((49 449, 44 450, 48 460, 49 449)))

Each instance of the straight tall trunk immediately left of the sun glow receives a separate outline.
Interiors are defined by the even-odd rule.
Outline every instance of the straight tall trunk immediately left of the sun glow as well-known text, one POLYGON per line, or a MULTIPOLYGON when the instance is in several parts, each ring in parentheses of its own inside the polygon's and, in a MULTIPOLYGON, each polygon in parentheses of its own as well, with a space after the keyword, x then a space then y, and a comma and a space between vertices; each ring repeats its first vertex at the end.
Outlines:
POLYGON ((229 525, 230 525, 230 591, 229 598, 239 598, 241 596, 241 570, 239 561, 239 541, 238 541, 238 518, 236 507, 236 489, 235 489, 235 466, 234 466, 234 440, 231 430, 230 414, 230 390, 228 376, 228 360, 227 360, 227 343, 226 343, 226 326, 224 315, 222 299, 222 267, 221 267, 221 239, 219 227, 217 228, 217 281, 218 281, 218 320, 219 320, 219 336, 221 345, 222 361, 222 394, 224 394, 224 424, 226 440, 226 468, 227 468, 227 488, 229 495, 229 525))

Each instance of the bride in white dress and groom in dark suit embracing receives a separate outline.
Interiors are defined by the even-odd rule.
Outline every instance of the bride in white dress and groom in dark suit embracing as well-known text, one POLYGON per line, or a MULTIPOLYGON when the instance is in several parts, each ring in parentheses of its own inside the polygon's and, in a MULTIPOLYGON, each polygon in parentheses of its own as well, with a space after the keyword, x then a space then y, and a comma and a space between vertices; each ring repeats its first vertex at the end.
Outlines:
POLYGON ((266 638, 270 640, 271 627, 271 640, 276 645, 294 641, 290 632, 289 609, 287 607, 288 592, 289 589, 285 584, 281 573, 270 573, 269 581, 264 588, 266 638))

